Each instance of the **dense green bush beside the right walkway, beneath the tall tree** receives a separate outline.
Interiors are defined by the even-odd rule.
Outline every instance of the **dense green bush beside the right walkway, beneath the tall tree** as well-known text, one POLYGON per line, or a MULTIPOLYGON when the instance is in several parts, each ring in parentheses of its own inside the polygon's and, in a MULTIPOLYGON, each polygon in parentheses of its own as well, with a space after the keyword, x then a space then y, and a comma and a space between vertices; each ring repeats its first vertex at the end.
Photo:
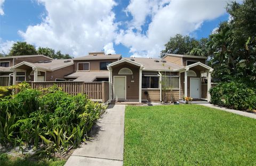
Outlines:
POLYGON ((222 83, 210 89, 211 103, 237 110, 256 109, 255 89, 243 83, 222 83))

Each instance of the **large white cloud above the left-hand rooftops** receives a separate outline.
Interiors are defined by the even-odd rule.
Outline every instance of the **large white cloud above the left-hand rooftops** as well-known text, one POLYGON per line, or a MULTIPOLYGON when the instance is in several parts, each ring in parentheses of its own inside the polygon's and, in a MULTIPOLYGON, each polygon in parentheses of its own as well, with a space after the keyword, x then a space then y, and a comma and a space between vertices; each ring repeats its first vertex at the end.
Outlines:
MULTIPOLYGON (((21 37, 35 46, 50 47, 72 56, 102 50, 116 34, 113 0, 47 1, 46 17, 41 24, 29 26, 21 37)), ((112 52, 114 49, 112 50, 112 52)))

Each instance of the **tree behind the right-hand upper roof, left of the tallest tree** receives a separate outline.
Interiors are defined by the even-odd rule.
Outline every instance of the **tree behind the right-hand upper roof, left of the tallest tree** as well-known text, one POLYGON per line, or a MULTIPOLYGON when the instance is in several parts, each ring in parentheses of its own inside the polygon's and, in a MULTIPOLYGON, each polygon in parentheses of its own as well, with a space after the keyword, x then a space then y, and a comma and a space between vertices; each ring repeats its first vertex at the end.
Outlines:
POLYGON ((207 56, 207 38, 196 40, 189 36, 176 34, 175 37, 170 38, 170 40, 165 44, 165 49, 161 51, 161 56, 163 57, 166 53, 207 56))

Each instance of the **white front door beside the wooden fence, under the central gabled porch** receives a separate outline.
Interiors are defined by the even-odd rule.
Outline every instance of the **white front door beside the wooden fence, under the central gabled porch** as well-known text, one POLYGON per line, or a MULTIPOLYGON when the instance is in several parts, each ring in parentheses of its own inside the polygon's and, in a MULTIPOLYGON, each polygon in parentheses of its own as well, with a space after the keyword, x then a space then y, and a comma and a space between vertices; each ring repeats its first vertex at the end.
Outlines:
POLYGON ((126 78, 125 76, 114 76, 114 99, 126 99, 126 78))

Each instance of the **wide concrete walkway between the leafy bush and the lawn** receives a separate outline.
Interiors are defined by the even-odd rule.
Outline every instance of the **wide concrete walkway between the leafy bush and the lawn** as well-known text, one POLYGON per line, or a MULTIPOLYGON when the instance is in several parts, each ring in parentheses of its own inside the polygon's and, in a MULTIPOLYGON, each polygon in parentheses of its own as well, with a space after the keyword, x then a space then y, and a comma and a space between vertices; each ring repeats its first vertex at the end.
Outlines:
POLYGON ((93 127, 92 140, 77 148, 65 166, 122 166, 125 105, 109 105, 93 127))

